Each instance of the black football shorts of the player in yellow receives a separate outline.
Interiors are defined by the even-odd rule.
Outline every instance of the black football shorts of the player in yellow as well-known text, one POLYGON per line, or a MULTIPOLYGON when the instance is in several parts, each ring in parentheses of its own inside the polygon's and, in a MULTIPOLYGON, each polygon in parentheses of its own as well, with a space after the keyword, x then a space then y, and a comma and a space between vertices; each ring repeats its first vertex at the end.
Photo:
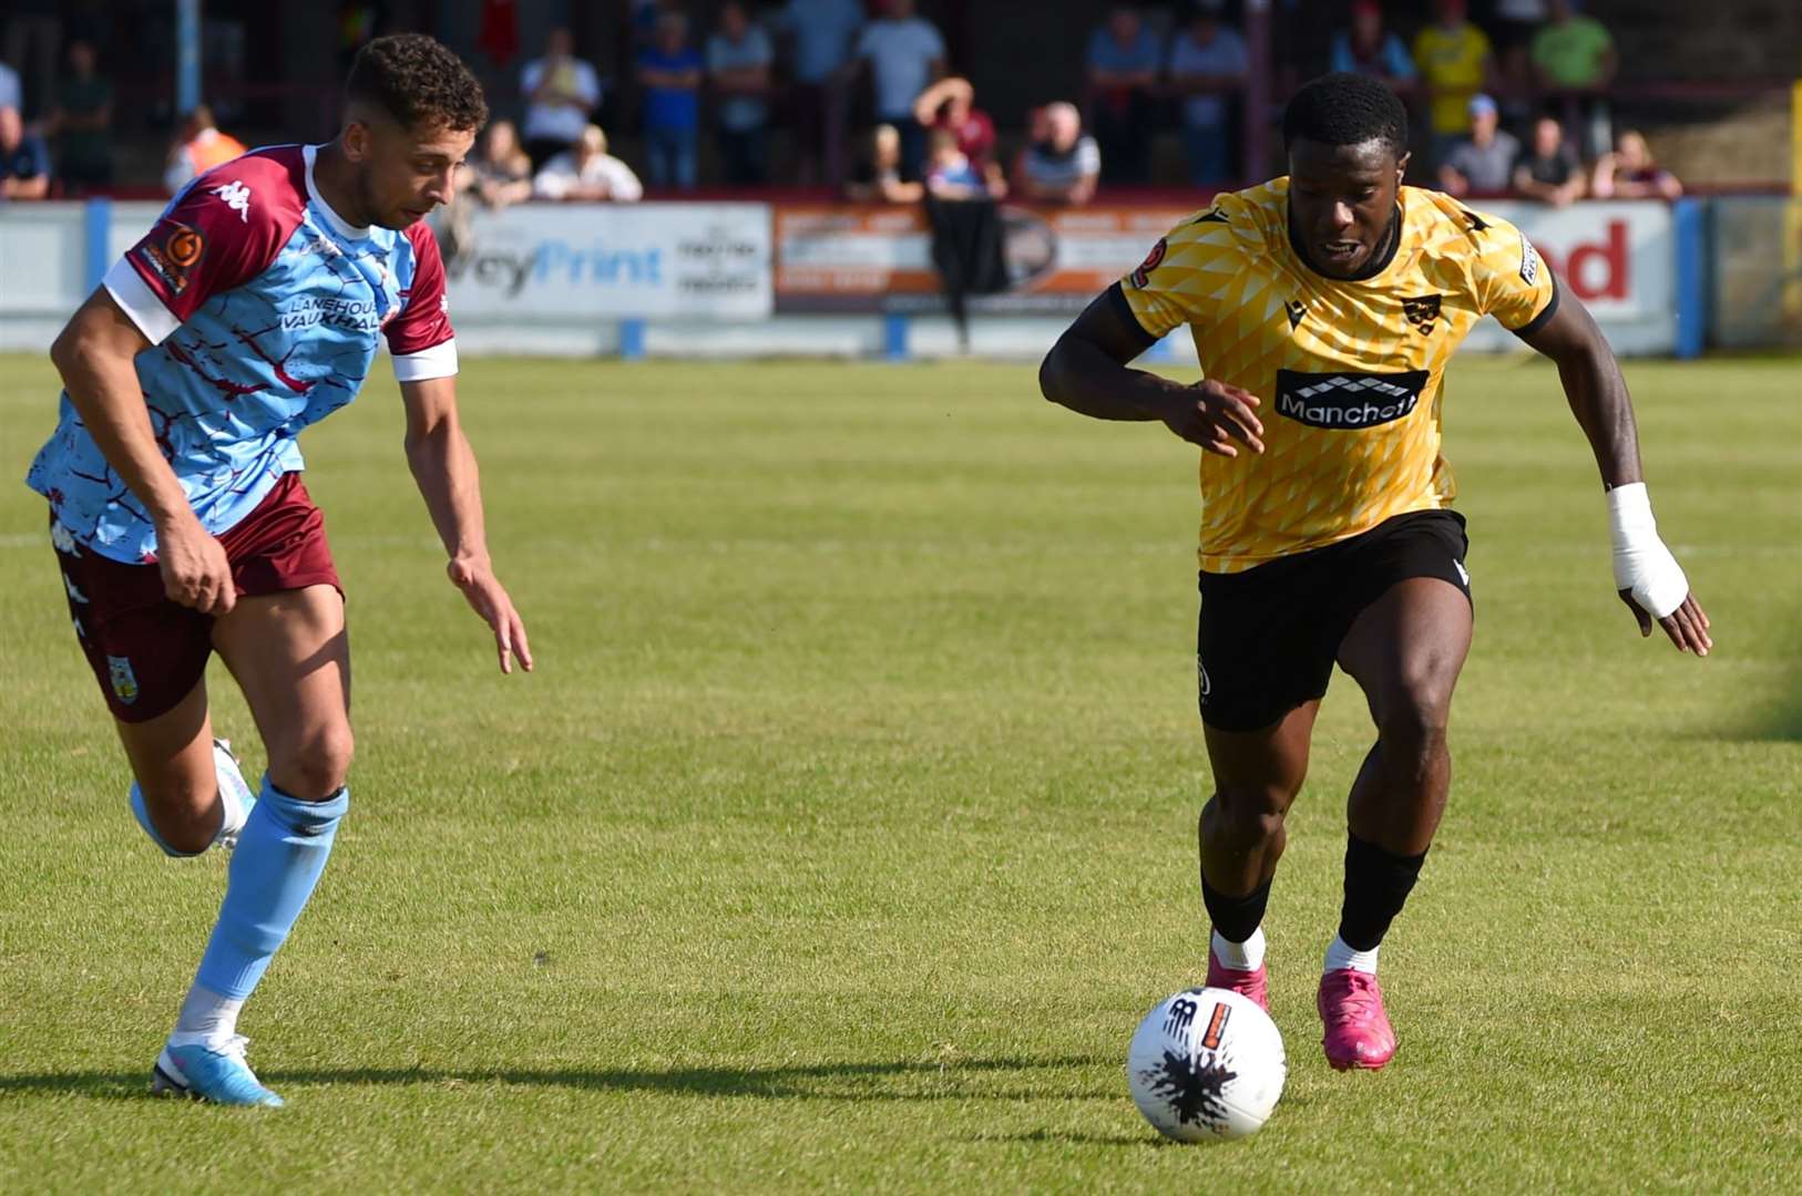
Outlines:
POLYGON ((1458 512, 1409 512, 1243 573, 1202 573, 1195 638, 1202 722, 1258 731, 1324 697, 1341 641, 1391 585, 1436 576, 1470 598, 1469 548, 1458 512))

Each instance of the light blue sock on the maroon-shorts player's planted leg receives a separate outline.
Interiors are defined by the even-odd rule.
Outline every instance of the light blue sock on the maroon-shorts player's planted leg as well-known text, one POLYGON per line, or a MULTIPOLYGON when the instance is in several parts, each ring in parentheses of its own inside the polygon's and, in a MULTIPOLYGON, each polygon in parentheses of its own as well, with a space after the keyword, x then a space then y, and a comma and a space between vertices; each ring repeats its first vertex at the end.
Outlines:
POLYGON ((238 832, 225 902, 195 983, 231 1000, 250 996, 314 895, 348 809, 350 789, 301 802, 263 776, 256 809, 238 832))

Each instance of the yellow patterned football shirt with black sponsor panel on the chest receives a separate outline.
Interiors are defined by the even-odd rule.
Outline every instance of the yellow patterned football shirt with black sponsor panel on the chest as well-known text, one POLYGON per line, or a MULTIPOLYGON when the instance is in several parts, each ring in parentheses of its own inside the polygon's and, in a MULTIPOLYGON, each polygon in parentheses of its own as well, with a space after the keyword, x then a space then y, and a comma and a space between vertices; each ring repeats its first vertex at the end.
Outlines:
POLYGON ((1202 373, 1261 400, 1263 454, 1202 454, 1209 573, 1451 506, 1442 378, 1483 315, 1528 333, 1557 306, 1552 270, 1508 222, 1402 187, 1395 256, 1362 281, 1315 274, 1288 238, 1288 180, 1177 225, 1121 279, 1137 324, 1188 324, 1202 373))

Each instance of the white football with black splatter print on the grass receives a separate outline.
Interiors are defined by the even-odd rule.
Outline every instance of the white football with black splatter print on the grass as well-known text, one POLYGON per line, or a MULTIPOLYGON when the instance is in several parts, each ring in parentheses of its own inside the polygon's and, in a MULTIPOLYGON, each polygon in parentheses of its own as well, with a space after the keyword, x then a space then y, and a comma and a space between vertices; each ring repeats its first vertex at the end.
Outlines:
POLYGON ((1225 989, 1188 989, 1157 1003, 1126 1052, 1133 1104, 1177 1142, 1258 1133, 1288 1077, 1270 1014, 1225 989))

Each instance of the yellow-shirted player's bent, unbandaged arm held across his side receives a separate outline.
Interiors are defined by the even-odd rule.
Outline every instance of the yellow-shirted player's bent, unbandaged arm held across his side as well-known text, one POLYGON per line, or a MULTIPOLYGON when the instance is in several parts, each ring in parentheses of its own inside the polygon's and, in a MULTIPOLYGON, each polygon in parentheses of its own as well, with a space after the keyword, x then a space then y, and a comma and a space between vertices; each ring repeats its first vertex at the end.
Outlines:
POLYGON ((1038 367, 1045 398, 1096 420, 1162 420, 1182 439, 1224 458, 1238 456, 1233 441, 1263 452, 1256 396, 1213 378, 1184 385, 1128 367, 1151 339, 1128 324, 1123 306, 1115 285, 1058 337, 1038 367))

